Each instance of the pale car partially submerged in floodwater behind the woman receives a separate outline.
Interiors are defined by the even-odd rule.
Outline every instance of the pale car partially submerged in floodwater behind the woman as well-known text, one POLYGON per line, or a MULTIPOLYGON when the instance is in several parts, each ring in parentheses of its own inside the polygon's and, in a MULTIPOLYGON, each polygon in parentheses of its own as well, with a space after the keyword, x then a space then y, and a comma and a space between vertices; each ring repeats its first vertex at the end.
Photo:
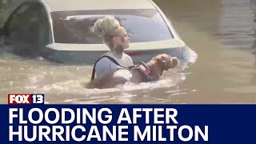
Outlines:
POLYGON ((27 0, 2 27, 4 42, 18 54, 39 54, 54 62, 92 64, 109 50, 94 35, 94 22, 112 15, 130 36, 134 63, 166 53, 178 58, 190 49, 151 0, 27 0))

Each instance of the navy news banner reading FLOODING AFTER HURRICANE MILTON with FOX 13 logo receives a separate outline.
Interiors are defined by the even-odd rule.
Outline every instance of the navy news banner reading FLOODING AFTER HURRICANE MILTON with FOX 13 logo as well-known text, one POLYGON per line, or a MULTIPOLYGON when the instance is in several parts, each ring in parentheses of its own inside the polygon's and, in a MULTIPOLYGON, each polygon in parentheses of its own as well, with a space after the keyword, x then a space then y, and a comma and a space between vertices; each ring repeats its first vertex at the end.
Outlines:
POLYGON ((50 105, 8 94, 1 143, 256 143, 256 105, 50 105))

